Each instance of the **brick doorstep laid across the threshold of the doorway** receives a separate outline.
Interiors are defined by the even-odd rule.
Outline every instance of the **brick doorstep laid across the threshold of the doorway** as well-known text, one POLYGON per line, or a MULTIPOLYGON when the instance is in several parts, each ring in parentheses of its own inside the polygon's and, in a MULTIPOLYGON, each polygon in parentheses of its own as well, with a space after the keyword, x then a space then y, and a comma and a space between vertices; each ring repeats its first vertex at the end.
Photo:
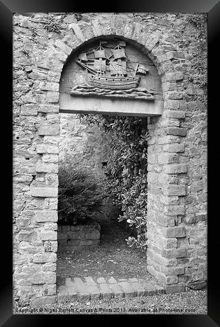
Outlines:
POLYGON ((164 287, 139 281, 137 278, 116 280, 111 277, 106 281, 105 278, 99 277, 95 281, 92 277, 84 277, 84 280, 75 277, 73 280, 66 278, 65 285, 59 286, 57 302, 152 296, 164 293, 164 287))

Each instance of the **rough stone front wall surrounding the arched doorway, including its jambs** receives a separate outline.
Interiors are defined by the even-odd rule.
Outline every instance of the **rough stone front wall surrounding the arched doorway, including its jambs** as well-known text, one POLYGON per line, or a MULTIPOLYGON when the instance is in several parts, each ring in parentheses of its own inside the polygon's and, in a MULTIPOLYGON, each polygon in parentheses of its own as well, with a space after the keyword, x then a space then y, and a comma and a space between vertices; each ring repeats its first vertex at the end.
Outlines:
POLYGON ((13 18, 14 299, 55 301, 60 76, 79 46, 112 35, 148 56, 162 83, 163 115, 149 118, 148 270, 167 292, 205 285, 207 108, 193 81, 196 27, 187 14, 83 13, 54 15, 56 33, 47 18, 13 18))

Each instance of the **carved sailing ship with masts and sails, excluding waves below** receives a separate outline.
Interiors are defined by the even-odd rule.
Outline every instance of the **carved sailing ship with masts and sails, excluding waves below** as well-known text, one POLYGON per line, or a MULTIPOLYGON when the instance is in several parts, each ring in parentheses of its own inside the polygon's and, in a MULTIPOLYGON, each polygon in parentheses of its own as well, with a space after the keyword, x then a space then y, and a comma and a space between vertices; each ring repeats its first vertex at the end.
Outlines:
POLYGON ((105 44, 108 42, 100 40, 98 48, 79 54, 77 63, 86 69, 87 83, 108 90, 136 88, 140 81, 136 74, 145 74, 148 69, 140 64, 133 67, 125 52, 124 41, 118 41, 114 48, 105 44))

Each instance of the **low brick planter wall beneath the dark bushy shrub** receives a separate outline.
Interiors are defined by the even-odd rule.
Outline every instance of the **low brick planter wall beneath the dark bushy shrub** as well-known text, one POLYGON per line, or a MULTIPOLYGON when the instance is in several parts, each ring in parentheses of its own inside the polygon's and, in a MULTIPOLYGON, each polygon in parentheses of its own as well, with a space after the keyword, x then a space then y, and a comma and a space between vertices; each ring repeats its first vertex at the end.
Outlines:
POLYGON ((59 251, 96 248, 100 243, 100 225, 95 221, 87 225, 59 225, 57 231, 59 251))

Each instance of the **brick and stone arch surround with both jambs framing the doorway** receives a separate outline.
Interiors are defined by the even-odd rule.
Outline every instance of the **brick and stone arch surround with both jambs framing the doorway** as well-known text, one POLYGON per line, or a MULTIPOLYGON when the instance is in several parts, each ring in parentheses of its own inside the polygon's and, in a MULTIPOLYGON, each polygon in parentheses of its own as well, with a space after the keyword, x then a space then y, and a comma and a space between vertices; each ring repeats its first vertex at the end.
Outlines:
POLYGON ((195 236, 199 228, 205 232, 202 224, 205 215, 192 217, 185 210, 187 174, 194 168, 187 163, 184 152, 187 127, 181 127, 180 123, 185 119, 187 106, 183 100, 184 75, 173 62, 175 45, 167 45, 170 41, 164 41, 160 31, 152 31, 146 24, 124 15, 113 16, 111 20, 98 17, 89 23, 71 23, 67 32, 62 39, 51 40, 45 51, 39 51, 35 66, 39 79, 41 70, 47 71, 47 77, 34 86, 39 94, 32 92, 27 105, 22 107, 23 115, 36 116, 32 124, 37 125, 37 133, 32 137, 36 150, 28 171, 33 176, 29 200, 16 221, 19 228, 15 237, 18 253, 14 255, 16 296, 23 301, 31 299, 33 303, 55 301, 59 79, 73 51, 89 40, 109 36, 121 37, 141 48, 157 67, 162 81, 163 114, 149 118, 152 138, 148 146, 148 271, 166 286, 168 293, 182 291, 190 284, 205 283, 205 258, 201 259, 201 269, 196 261, 197 251, 205 246, 195 236), (190 237, 193 247, 189 247, 190 237), (32 250, 26 251, 26 241, 32 250))

